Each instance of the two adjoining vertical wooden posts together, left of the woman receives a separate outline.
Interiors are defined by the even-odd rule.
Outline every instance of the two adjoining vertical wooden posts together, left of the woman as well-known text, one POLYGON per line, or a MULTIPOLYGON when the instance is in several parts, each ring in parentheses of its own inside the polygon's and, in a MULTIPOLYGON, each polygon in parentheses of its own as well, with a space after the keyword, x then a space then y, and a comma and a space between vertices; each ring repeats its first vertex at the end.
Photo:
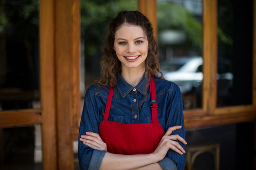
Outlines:
POLYGON ((40 0, 43 169, 72 170, 80 116, 80 0, 40 0))

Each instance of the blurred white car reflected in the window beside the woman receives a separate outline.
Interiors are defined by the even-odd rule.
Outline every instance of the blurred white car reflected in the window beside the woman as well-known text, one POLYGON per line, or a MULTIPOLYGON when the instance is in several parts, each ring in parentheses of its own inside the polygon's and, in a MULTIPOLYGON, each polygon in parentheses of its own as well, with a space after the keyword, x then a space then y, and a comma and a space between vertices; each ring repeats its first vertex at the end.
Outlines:
POLYGON ((160 63, 164 79, 176 83, 181 93, 190 93, 194 87, 201 85, 202 74, 201 57, 180 57, 160 63))

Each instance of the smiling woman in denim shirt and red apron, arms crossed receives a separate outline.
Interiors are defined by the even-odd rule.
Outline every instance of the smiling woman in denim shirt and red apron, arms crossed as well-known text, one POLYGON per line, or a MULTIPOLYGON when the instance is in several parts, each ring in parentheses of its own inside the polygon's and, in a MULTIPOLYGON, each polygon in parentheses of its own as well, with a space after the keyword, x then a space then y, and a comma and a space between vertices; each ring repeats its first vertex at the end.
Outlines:
POLYGON ((149 20, 122 11, 110 24, 101 80, 85 94, 82 170, 183 170, 186 144, 179 87, 161 75, 149 20))

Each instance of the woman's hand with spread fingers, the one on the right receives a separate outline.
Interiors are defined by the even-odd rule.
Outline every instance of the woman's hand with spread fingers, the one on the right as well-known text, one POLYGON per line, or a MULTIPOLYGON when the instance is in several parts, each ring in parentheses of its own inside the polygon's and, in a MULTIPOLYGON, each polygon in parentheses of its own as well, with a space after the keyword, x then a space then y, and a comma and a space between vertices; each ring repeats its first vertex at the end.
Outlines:
MULTIPOLYGON (((181 126, 169 127, 166 131, 165 135, 162 137, 158 146, 156 147, 154 154, 158 155, 161 160, 164 159, 169 149, 174 150, 176 153, 183 154, 186 153, 183 147, 176 142, 175 140, 179 140, 183 144, 187 144, 187 142, 179 135, 171 135, 174 130, 180 129, 181 126)), ((160 160, 160 161, 161 161, 160 160)))

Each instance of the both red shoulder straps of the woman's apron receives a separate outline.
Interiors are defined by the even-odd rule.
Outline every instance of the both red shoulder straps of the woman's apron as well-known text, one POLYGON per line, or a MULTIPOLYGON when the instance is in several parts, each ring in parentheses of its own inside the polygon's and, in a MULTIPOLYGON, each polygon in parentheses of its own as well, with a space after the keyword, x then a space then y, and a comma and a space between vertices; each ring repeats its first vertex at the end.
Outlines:
MULTIPOLYGON (((158 116, 157 116, 158 103, 156 102, 155 81, 152 77, 150 79, 149 88, 150 88, 150 99, 151 99, 150 106, 151 106, 151 113, 152 113, 152 122, 158 123, 158 116)), ((104 120, 109 120, 110 106, 112 102, 113 92, 114 92, 114 88, 110 86, 107 105, 104 112, 104 120)))

